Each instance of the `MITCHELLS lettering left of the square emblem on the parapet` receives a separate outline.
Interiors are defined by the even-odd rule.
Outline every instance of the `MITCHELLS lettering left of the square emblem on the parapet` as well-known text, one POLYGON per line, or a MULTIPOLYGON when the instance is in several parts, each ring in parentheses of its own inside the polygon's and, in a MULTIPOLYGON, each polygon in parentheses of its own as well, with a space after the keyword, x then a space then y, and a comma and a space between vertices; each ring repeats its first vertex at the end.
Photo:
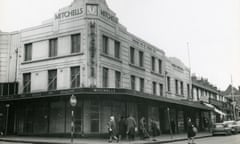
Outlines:
POLYGON ((67 10, 67 11, 55 14, 55 19, 58 20, 58 19, 64 19, 64 18, 78 16, 78 15, 83 15, 83 12, 84 12, 83 8, 67 10))

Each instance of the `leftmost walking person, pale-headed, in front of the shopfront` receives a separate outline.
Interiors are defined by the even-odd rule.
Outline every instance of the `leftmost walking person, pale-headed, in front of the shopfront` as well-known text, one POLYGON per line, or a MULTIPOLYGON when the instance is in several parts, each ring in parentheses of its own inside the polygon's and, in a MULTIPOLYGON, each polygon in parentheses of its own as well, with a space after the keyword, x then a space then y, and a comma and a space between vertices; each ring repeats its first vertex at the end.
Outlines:
POLYGON ((119 139, 117 138, 116 134, 117 134, 117 126, 116 126, 116 122, 115 122, 115 118, 114 116, 110 116, 109 122, 107 124, 108 126, 108 134, 109 134, 109 143, 112 143, 113 140, 116 140, 116 142, 119 141, 119 139))

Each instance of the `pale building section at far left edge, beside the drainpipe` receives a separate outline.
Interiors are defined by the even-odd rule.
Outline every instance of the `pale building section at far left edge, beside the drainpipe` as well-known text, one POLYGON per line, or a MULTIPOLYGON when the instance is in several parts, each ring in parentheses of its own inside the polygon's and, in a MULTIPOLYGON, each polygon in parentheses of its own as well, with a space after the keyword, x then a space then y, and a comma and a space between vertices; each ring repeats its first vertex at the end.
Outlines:
POLYGON ((19 42, 17 32, 0 31, 0 96, 17 93, 16 61, 19 42))

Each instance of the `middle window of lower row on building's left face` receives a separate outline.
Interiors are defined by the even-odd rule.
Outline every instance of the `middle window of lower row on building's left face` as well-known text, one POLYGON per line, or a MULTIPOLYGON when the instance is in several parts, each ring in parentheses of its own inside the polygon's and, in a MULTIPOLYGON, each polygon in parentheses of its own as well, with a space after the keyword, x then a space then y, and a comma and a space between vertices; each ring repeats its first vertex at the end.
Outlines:
POLYGON ((57 89, 57 70, 48 71, 48 90, 57 89))

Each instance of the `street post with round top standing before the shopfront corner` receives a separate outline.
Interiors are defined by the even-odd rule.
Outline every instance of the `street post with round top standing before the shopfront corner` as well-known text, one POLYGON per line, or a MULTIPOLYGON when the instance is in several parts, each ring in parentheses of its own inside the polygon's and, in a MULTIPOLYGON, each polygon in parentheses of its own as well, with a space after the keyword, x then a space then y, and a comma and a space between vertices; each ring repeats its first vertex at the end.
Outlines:
POLYGON ((71 121, 71 144, 73 144, 73 138, 74 138, 74 131, 75 131, 75 124, 74 124, 74 108, 77 105, 77 98, 75 95, 72 95, 70 97, 70 105, 71 105, 71 116, 72 116, 72 121, 71 121))

